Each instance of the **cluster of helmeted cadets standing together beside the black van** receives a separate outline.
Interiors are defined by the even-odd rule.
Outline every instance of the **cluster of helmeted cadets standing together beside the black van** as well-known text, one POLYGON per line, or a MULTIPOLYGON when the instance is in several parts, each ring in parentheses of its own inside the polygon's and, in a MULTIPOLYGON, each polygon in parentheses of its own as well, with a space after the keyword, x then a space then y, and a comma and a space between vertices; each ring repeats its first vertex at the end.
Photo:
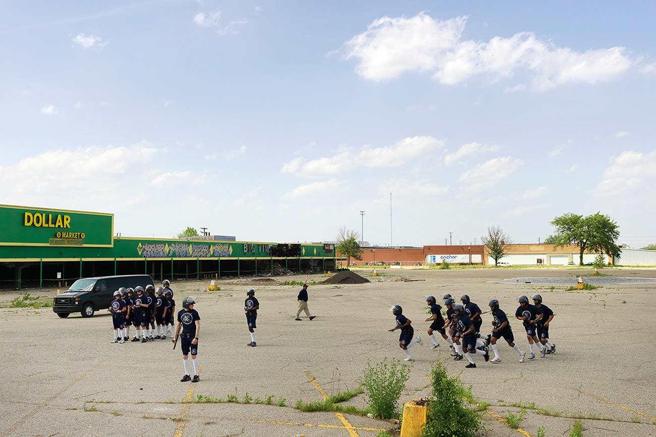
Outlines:
POLYGON ((114 292, 109 311, 112 313, 114 328, 112 343, 129 341, 131 326, 134 326, 132 341, 146 343, 173 335, 175 301, 171 283, 167 279, 157 290, 152 284, 148 284, 145 289, 142 286, 134 289, 119 288, 114 292))

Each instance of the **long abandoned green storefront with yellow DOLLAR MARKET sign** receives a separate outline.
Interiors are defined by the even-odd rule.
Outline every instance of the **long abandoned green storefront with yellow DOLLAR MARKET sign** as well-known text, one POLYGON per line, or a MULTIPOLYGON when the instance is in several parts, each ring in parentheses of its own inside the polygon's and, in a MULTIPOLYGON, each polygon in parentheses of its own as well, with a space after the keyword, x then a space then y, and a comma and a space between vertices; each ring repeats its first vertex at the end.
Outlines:
POLYGON ((221 278, 333 271, 333 244, 117 237, 113 214, 0 205, 0 288, 146 273, 221 278))

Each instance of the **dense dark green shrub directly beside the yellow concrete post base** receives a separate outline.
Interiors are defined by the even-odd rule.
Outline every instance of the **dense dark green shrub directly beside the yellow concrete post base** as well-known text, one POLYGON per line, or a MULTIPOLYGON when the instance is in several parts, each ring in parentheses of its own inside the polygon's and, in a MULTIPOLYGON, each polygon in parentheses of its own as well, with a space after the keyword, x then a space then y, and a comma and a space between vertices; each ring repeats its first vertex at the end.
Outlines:
POLYGON ((422 437, 468 437, 482 429, 480 415, 464 406, 468 390, 459 377, 449 377, 443 360, 433 363, 430 377, 432 398, 422 437))

